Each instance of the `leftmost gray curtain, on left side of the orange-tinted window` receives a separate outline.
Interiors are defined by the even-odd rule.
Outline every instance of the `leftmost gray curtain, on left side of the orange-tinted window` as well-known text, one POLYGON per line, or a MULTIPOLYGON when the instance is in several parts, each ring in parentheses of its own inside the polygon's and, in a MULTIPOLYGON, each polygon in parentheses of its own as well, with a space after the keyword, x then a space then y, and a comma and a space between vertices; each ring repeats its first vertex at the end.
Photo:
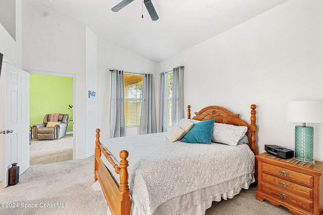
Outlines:
POLYGON ((126 136, 124 71, 111 71, 110 137, 126 136))

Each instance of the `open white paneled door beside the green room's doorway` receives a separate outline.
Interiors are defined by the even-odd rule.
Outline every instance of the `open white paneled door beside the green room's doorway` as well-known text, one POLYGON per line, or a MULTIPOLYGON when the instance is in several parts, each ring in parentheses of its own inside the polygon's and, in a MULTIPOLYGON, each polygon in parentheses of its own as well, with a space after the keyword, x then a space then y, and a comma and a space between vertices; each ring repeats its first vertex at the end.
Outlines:
POLYGON ((18 163, 19 175, 29 168, 29 73, 3 63, 0 77, 1 177, 8 186, 8 170, 18 163))

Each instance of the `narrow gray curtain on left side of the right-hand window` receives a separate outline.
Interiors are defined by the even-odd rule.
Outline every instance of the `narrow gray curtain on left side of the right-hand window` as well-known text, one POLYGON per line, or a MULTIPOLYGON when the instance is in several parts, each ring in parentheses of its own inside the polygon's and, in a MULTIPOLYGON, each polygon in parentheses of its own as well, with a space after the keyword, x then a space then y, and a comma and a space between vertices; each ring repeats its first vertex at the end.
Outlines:
POLYGON ((159 132, 167 131, 167 87, 166 73, 160 73, 159 84, 159 132))

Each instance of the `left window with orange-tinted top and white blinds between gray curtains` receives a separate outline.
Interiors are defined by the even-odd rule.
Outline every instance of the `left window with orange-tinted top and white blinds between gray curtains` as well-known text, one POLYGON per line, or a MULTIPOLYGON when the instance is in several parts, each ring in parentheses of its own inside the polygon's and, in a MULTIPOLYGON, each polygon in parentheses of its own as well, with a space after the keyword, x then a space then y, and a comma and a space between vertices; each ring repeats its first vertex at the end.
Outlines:
POLYGON ((125 117, 127 126, 139 126, 142 103, 142 75, 125 74, 125 117))

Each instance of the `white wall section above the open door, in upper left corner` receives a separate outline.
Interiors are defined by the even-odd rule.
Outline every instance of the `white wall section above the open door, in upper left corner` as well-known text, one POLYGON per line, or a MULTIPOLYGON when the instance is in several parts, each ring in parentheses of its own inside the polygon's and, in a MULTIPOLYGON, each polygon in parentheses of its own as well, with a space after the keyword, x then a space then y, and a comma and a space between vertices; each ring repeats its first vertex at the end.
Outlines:
MULTIPOLYGON (((1 7, 12 7, 12 4, 6 5, 6 3, 8 2, 2 2, 1 7)), ((16 0, 16 25, 8 26, 12 25, 12 22, 6 25, 8 29, 11 29, 11 33, 14 33, 14 28, 16 29, 16 40, 0 23, 0 52, 4 54, 4 61, 21 68, 21 0, 16 0)))

